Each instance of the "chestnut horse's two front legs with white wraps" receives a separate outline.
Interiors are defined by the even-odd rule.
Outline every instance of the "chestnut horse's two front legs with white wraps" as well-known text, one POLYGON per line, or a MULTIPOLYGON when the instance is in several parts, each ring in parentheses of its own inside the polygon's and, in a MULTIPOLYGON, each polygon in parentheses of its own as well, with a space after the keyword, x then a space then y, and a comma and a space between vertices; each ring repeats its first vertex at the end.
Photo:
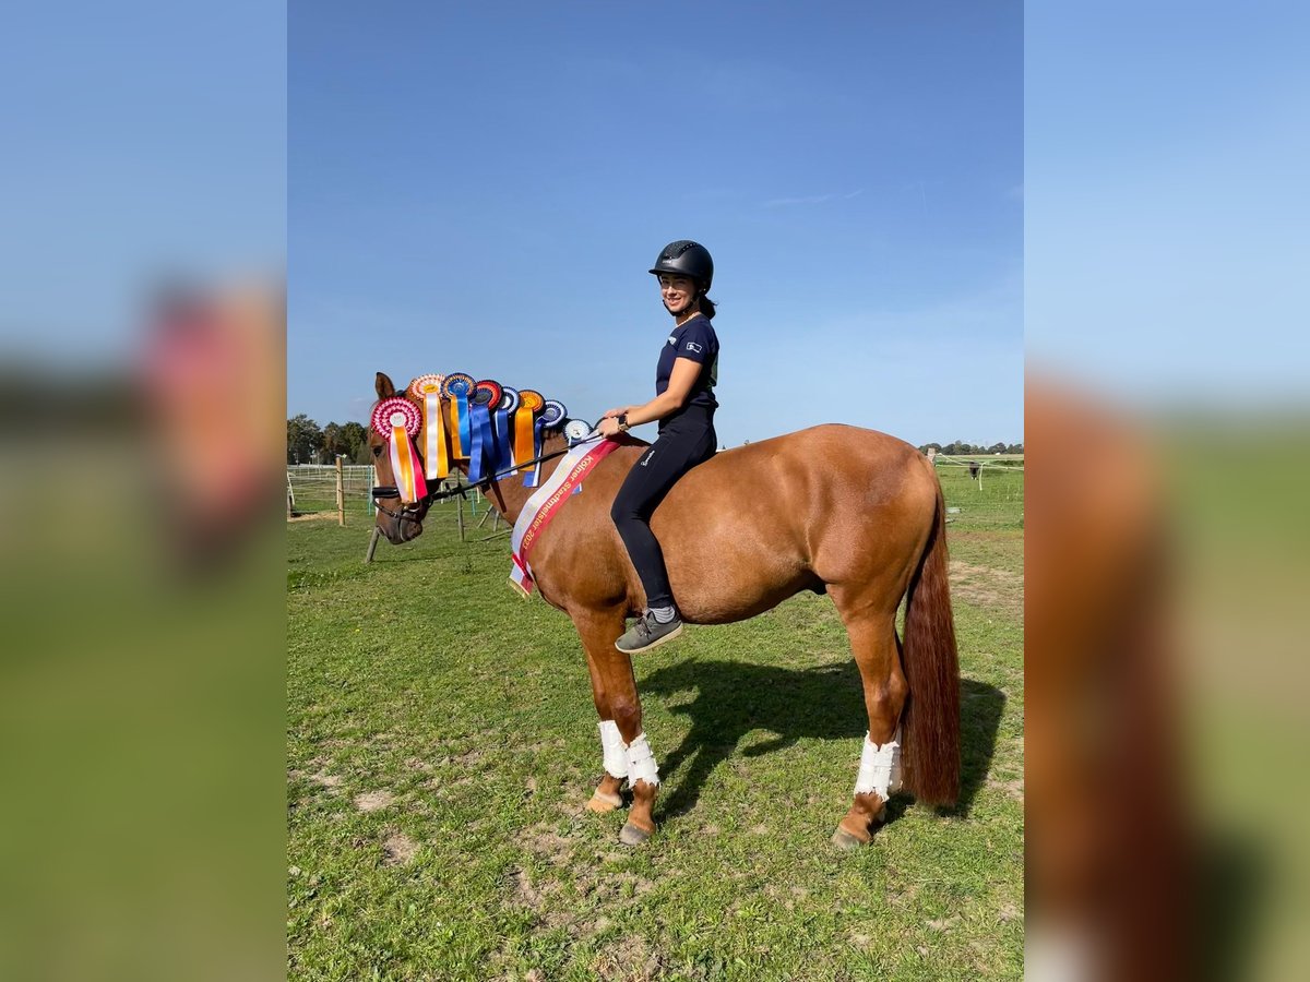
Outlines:
POLYGON ((614 642, 624 632, 624 613, 620 609, 572 611, 572 621, 587 652, 605 766, 587 808, 592 812, 618 808, 624 780, 627 780, 633 790, 633 808, 618 838, 625 845, 635 846, 655 831, 651 809, 659 790, 659 767, 642 732, 642 703, 637 695, 633 661, 614 648, 614 642))

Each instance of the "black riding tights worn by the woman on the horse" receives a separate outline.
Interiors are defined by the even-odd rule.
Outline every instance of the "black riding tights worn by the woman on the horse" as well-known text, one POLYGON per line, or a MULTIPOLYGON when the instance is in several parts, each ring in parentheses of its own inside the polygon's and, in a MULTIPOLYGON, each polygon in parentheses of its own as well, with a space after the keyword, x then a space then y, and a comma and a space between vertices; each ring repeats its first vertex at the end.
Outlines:
POLYGON ((680 477, 714 456, 717 445, 713 414, 684 414, 664 427, 659 439, 627 471, 627 478, 614 498, 609 517, 614 520, 642 587, 646 588, 648 608, 669 606, 673 602, 664 554, 651 533, 651 515, 680 477))

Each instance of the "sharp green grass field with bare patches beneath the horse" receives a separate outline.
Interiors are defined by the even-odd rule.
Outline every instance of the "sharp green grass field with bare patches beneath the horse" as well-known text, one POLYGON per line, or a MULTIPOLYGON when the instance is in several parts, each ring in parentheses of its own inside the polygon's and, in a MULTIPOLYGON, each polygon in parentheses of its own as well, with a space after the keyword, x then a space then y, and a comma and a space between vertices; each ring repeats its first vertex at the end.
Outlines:
POLYGON ((804 594, 637 661, 659 834, 600 776, 569 619, 453 507, 363 563, 352 515, 288 524, 288 973, 296 979, 975 979, 1023 972, 1022 475, 943 469, 964 793, 828 843, 865 715, 804 594))

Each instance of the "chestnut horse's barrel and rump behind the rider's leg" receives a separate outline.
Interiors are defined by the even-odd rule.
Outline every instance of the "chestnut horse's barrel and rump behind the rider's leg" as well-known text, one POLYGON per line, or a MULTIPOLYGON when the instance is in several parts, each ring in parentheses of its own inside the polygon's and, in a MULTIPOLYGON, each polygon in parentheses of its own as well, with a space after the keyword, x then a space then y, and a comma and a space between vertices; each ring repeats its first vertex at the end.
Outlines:
POLYGON ((651 530, 684 615, 713 623, 828 584, 903 593, 935 503, 913 446, 827 424, 715 454, 673 486, 651 530))

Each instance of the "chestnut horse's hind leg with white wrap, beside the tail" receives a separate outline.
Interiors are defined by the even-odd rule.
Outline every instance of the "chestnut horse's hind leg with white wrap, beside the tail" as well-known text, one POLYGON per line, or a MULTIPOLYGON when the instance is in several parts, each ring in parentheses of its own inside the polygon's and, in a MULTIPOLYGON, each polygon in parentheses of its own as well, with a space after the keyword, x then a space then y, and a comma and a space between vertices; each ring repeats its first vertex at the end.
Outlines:
POLYGON ((853 847, 872 839, 874 826, 886 814, 887 799, 900 784, 896 741, 908 686, 896 644, 895 611, 849 610, 842 609, 840 597, 833 600, 846 622, 869 712, 869 736, 862 745, 854 800, 832 837, 837 846, 853 847))

